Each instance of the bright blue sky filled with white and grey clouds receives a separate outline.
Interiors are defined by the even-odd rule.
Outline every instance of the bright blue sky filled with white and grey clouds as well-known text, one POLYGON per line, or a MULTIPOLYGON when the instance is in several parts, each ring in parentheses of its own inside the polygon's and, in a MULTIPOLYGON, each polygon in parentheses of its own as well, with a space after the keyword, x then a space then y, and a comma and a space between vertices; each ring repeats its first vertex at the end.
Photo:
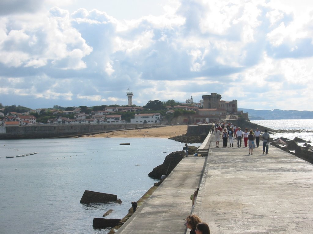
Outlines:
POLYGON ((0 103, 313 111, 313 2, 1 0, 0 103))

